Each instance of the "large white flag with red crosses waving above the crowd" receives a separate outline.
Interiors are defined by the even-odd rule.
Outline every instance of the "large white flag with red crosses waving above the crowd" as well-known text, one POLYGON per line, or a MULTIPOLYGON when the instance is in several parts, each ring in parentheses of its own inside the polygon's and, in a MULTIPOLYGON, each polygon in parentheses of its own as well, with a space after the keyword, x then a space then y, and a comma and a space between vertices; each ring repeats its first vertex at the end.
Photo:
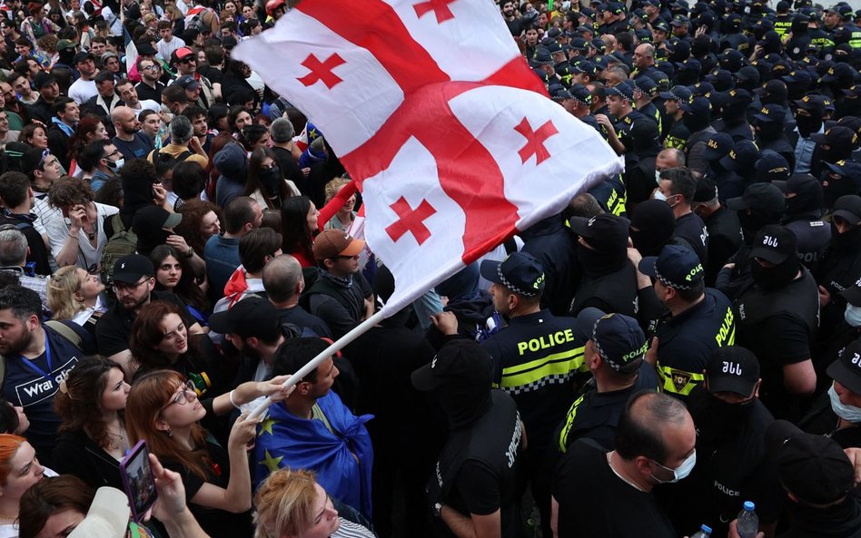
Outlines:
POLYGON ((358 181, 391 313, 622 170, 549 100, 490 0, 302 0, 233 58, 358 181))

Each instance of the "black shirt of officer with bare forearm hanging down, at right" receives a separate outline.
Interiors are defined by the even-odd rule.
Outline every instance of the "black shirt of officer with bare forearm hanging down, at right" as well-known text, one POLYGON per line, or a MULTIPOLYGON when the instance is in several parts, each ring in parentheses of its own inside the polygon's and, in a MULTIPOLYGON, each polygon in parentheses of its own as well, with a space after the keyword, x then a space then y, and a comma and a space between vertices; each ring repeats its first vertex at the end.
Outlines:
POLYGON ((762 402, 777 418, 798 418, 795 398, 784 386, 783 367, 811 357, 810 342, 816 337, 819 294, 810 271, 776 291, 750 286, 733 308, 736 344, 747 347, 759 359, 762 402))

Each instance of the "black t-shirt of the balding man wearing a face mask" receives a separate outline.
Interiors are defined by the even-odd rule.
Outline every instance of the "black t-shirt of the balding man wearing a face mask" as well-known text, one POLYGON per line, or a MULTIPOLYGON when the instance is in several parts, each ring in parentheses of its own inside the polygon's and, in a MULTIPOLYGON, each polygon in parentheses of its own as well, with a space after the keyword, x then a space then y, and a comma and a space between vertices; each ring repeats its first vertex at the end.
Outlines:
POLYGON ((556 467, 559 538, 678 538, 652 494, 613 473, 607 453, 592 441, 570 446, 556 467))

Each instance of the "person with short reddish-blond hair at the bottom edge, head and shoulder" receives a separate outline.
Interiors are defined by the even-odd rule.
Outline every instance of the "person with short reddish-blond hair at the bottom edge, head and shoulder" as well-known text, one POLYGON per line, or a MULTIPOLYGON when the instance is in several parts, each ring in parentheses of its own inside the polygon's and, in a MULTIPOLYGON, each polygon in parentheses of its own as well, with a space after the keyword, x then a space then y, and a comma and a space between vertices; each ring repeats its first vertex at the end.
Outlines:
POLYGON ((332 499, 312 471, 279 469, 254 495, 256 538, 373 538, 361 514, 332 499))

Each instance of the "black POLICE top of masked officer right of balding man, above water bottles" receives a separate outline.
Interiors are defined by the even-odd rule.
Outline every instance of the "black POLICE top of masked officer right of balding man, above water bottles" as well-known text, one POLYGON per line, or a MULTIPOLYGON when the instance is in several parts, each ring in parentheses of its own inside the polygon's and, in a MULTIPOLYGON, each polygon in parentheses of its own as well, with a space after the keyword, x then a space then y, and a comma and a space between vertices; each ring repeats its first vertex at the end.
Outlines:
POLYGON ((760 524, 776 522, 786 494, 765 447, 774 416, 756 398, 730 405, 705 386, 691 391, 688 411, 697 427, 697 465, 688 478, 657 494, 676 528, 708 523, 712 535, 726 536, 745 501, 757 505, 760 524))

